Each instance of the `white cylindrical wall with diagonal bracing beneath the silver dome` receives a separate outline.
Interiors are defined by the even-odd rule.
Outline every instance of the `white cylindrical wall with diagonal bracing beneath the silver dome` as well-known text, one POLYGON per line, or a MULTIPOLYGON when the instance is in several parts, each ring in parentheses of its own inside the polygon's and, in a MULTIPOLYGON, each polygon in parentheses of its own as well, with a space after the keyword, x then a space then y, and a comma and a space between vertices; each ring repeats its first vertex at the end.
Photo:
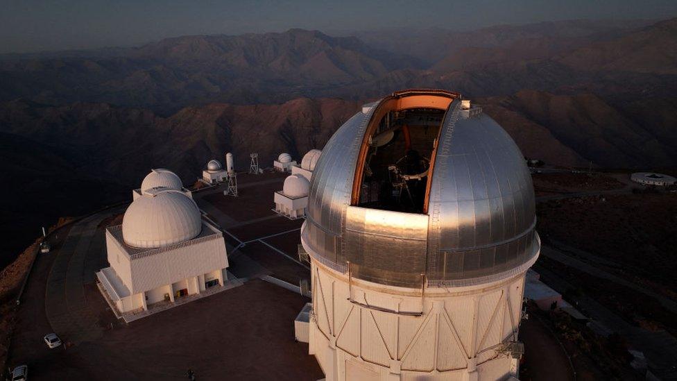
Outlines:
POLYGON ((507 378, 514 360, 524 273, 454 289, 384 287, 352 280, 312 261, 309 352, 327 381, 507 378), (352 300, 352 301, 351 301, 352 300), (421 316, 398 314, 422 312, 421 316))

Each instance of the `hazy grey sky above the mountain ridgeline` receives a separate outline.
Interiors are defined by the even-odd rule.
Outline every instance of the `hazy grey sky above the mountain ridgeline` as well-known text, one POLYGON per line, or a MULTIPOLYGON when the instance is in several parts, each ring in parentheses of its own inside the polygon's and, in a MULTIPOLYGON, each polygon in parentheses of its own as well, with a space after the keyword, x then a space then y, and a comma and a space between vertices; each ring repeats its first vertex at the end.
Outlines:
POLYGON ((289 28, 479 28, 562 19, 655 19, 677 0, 0 0, 0 53, 133 46, 163 37, 289 28))

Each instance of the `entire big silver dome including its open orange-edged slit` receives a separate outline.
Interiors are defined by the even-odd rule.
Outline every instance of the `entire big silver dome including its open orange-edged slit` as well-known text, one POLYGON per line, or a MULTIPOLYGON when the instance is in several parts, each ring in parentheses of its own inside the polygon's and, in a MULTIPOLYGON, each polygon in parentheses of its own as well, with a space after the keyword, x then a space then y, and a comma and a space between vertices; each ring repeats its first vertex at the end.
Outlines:
POLYGON ((308 203, 311 257, 386 285, 500 280, 540 250, 520 149, 456 93, 408 90, 364 105, 327 142, 308 203))

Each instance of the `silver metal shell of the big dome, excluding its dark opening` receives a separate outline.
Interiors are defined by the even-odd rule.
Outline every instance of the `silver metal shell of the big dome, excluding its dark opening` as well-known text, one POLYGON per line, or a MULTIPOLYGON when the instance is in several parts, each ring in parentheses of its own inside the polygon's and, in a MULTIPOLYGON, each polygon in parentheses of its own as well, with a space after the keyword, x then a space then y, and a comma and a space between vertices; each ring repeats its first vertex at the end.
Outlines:
POLYGON ((364 105, 329 139, 311 180, 302 242, 316 259, 339 271, 350 262, 361 272, 354 277, 372 282, 420 287, 425 274, 429 285, 470 285, 529 266, 540 248, 534 227, 531 176, 510 135, 481 109, 463 109, 458 94, 416 90, 364 105), (382 106, 418 101, 445 109, 425 212, 359 207, 356 171, 368 127, 379 123, 372 118, 384 115, 382 106))

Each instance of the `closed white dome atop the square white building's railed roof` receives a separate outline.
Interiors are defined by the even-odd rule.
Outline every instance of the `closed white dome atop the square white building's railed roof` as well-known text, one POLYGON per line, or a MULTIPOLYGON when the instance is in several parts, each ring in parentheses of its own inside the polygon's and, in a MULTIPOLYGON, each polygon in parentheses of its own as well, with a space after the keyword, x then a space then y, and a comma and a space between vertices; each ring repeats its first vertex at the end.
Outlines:
POLYGON ((200 234, 200 211, 185 194, 161 192, 137 198, 122 219, 122 237, 138 248, 187 241, 200 234))

